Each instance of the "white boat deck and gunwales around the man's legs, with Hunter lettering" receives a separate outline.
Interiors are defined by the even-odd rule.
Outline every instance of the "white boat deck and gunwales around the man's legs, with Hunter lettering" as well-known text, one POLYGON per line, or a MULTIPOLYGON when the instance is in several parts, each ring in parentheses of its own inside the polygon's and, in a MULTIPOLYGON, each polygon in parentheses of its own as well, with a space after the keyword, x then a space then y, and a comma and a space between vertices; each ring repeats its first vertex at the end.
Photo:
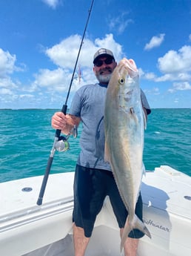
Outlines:
MULTIPOLYGON (((37 206, 42 178, 0 183, 0 255, 73 255, 73 172, 51 174, 43 204, 37 206)), ((141 239, 138 254, 189 256, 191 177, 161 166, 147 172, 141 193, 144 222, 152 239, 141 239)), ((117 256, 119 246, 118 226, 107 199, 96 220, 87 256, 117 256)))

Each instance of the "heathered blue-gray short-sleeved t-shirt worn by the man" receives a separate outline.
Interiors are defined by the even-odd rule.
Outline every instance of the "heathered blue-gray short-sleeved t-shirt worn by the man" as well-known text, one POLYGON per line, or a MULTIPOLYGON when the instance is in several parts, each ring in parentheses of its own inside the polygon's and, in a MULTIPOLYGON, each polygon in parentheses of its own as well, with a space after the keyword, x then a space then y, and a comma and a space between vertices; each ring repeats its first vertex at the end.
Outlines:
MULTIPOLYGON (((104 103, 107 85, 84 85, 76 91, 69 114, 81 118, 81 152, 77 164, 89 168, 111 171, 110 164, 104 162, 104 103)), ((144 92, 141 100, 147 113, 150 106, 144 92)))

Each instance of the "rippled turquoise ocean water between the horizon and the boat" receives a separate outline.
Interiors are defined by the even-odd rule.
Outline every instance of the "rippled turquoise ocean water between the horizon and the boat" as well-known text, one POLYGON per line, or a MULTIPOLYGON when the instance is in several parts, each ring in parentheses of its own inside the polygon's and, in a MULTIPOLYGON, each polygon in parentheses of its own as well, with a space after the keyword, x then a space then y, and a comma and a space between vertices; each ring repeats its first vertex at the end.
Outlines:
MULTIPOLYGON (((55 131, 50 119, 56 110, 0 110, 0 183, 43 175, 53 147, 55 131)), ((191 176, 191 109, 153 109, 145 131, 144 165, 160 165, 191 176)), ((74 171, 78 137, 70 137, 70 150, 56 151, 50 173, 74 171)))

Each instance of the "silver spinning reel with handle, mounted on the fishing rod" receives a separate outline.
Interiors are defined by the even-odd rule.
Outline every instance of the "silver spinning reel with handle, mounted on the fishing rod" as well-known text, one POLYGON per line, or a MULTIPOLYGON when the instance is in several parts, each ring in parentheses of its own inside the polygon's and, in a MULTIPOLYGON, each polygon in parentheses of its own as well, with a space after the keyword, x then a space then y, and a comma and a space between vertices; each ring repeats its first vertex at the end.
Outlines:
POLYGON ((58 140, 55 142, 55 148, 57 151, 64 152, 70 149, 70 144, 68 142, 70 135, 73 135, 73 137, 75 138, 78 136, 76 125, 73 126, 72 130, 70 131, 69 134, 67 134, 66 137, 65 136, 58 137, 58 140))

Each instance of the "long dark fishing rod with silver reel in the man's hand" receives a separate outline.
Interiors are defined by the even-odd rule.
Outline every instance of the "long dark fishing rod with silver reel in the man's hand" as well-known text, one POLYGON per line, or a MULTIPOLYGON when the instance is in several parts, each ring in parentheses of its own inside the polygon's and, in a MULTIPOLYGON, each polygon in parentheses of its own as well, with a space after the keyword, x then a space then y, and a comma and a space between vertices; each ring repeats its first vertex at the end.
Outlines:
MULTIPOLYGON (((71 90, 71 87, 72 87, 72 84, 73 84, 73 78, 74 78, 74 75, 75 75, 75 72, 76 72, 76 66, 77 66, 77 63, 78 63, 78 58, 79 58, 79 55, 80 55, 80 52, 81 52, 81 47, 83 45, 84 36, 85 36, 86 30, 87 30, 87 24, 89 22, 90 14, 92 12, 93 1, 91 3, 90 10, 88 12, 87 22, 86 22, 85 27, 84 27, 84 33, 83 33, 83 36, 81 38, 81 44, 80 44, 80 47, 79 47, 79 50, 78 50, 78 56, 76 58, 76 64, 74 66, 73 75, 72 75, 72 78, 71 78, 71 81, 70 81, 69 89, 67 91, 67 97, 66 97, 64 105, 61 108, 61 112, 64 113, 64 114, 67 113, 67 100, 69 98, 70 90, 71 90)), ((70 131, 70 133, 67 135, 67 137, 60 136, 60 134, 61 134, 61 130, 57 129, 56 133, 55 133, 55 139, 54 139, 54 142, 53 142, 53 148, 50 151, 50 156, 49 156, 49 159, 47 161, 47 168, 45 170, 44 177, 43 177, 43 180, 42 180, 42 183, 41 183, 41 190, 40 190, 40 193, 38 195, 38 200, 36 202, 36 204, 38 206, 41 206, 41 204, 42 204, 42 200, 43 200, 43 197, 44 197, 44 191, 45 191, 45 188, 47 186, 47 180, 48 180, 48 177, 49 177, 49 174, 50 174, 50 168, 51 168, 51 165, 53 163, 53 157, 54 157, 55 151, 56 150, 57 151, 67 151, 69 149, 70 145, 69 145, 69 142, 67 140, 70 137, 70 134, 73 134, 73 137, 77 137, 76 125, 74 125, 73 129, 70 131)))

